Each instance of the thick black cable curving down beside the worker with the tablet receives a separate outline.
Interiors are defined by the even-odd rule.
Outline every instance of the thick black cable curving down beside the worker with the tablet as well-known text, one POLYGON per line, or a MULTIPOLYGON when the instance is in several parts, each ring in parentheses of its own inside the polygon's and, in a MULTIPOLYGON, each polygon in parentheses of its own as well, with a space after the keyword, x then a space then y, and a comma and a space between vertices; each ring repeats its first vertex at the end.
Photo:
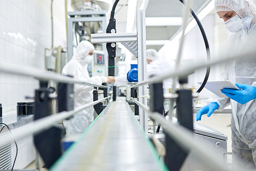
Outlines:
MULTIPOLYGON (((179 1, 182 4, 184 4, 183 0, 179 0, 179 1)), ((200 22, 199 18, 197 17, 197 14, 194 12, 194 10, 190 8, 190 11, 191 11, 191 14, 193 15, 193 17, 195 18, 195 20, 197 22, 197 25, 198 25, 198 27, 199 27, 199 29, 201 31, 202 36, 203 36, 204 44, 205 44, 205 49, 206 49, 206 53, 207 53, 207 61, 209 62, 210 61, 210 48, 209 48, 209 42, 208 42, 207 36, 205 34, 203 25, 200 22)), ((209 78, 209 74, 210 74, 210 66, 208 66, 207 69, 206 69, 206 74, 205 74, 203 83, 201 84, 200 88, 197 90, 197 93, 200 93, 203 90, 203 88, 204 88, 204 86, 205 86, 205 84, 206 84, 206 82, 207 82, 207 80, 209 78)), ((175 105, 173 107, 173 110, 175 110, 176 108, 177 108, 177 105, 175 105)), ((166 113, 168 113, 168 111, 166 113)), ((164 114, 164 116, 167 116, 167 114, 164 114)), ((159 124, 158 127, 157 127, 157 132, 156 133, 159 133, 160 127, 161 127, 161 125, 159 124)))

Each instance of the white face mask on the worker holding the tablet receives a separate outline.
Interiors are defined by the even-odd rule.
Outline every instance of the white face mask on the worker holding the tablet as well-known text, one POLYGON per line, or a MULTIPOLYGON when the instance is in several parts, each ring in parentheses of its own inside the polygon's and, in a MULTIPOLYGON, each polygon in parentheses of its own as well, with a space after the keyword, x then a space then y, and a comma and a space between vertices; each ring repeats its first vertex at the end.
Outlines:
POLYGON ((249 28, 251 20, 252 15, 243 19, 241 19, 238 15, 235 15, 224 23, 227 30, 229 30, 230 32, 239 32, 242 29, 246 29, 246 27, 249 28))

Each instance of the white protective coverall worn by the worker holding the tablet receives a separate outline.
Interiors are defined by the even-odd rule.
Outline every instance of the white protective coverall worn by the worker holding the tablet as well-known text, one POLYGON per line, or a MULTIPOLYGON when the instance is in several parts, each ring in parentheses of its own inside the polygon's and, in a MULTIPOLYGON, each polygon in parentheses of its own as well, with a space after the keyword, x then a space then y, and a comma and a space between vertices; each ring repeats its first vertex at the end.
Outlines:
MULTIPOLYGON (((234 11, 243 20, 244 28, 232 33, 227 41, 228 54, 236 54, 256 46, 255 6, 250 0, 216 0, 218 11, 234 11)), ((222 73, 224 79, 233 83, 256 86, 256 55, 241 56, 226 62, 222 73)), ((256 165, 256 101, 251 100, 240 104, 230 98, 220 98, 212 95, 207 103, 217 102, 218 110, 223 110, 231 103, 232 118, 232 163, 244 170, 255 170, 256 165)))

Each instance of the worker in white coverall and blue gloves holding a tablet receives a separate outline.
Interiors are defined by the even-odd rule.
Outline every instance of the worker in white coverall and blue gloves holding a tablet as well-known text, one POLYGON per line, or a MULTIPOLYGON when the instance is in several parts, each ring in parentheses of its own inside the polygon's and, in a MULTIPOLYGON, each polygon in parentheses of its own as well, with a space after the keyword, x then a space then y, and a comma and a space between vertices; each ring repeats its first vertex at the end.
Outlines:
MULTIPOLYGON (((249 52, 256 46, 256 8, 250 0, 216 0, 215 10, 232 32, 227 41, 228 54, 249 52)), ((222 74, 241 90, 223 89, 229 98, 212 95, 208 105, 197 112, 196 120, 231 103, 232 164, 243 170, 255 170, 256 164, 256 54, 226 62, 222 74)))

